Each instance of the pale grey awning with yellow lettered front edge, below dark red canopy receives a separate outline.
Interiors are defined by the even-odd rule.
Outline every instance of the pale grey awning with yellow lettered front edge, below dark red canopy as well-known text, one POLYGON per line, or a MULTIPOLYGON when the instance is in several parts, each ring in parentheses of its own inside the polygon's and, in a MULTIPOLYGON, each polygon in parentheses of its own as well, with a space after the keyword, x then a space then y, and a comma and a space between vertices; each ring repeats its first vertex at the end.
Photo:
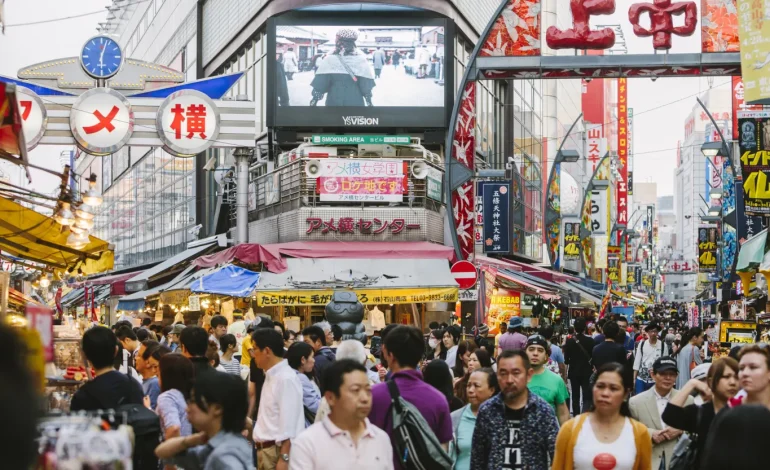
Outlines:
MULTIPOLYGON (((341 244, 346 245, 346 243, 341 244)), ((326 305, 335 291, 363 304, 456 302, 458 285, 445 259, 295 259, 286 271, 261 273, 257 305, 326 305)))

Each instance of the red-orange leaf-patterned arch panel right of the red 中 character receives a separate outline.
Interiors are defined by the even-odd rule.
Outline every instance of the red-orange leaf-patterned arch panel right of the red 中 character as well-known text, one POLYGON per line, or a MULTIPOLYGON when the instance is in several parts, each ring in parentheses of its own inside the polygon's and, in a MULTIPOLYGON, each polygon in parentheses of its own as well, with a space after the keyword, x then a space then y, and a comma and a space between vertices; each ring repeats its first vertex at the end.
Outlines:
POLYGON ((740 52, 736 0, 701 0, 701 51, 740 52))

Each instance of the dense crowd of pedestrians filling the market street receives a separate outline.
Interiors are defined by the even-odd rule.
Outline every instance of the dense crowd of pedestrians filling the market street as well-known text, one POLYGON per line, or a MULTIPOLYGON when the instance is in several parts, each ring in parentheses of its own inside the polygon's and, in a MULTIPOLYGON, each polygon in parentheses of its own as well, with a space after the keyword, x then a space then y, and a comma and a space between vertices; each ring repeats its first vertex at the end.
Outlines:
POLYGON ((704 362, 700 328, 674 344, 665 320, 612 316, 564 338, 517 317, 495 338, 388 325, 367 349, 326 322, 292 332, 238 313, 90 328, 94 378, 71 409, 156 416, 159 434, 137 431, 139 469, 762 468, 763 345, 704 362))

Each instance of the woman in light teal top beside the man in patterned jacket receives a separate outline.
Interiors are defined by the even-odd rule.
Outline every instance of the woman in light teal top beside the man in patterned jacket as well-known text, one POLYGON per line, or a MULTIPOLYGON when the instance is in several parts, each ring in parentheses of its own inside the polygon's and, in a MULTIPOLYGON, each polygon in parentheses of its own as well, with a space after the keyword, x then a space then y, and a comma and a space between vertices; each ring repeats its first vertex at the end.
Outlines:
POLYGON ((481 405, 499 392, 500 386, 497 383, 497 374, 491 368, 484 367, 470 372, 465 392, 468 404, 452 412, 454 470, 470 470, 476 417, 479 414, 481 405))

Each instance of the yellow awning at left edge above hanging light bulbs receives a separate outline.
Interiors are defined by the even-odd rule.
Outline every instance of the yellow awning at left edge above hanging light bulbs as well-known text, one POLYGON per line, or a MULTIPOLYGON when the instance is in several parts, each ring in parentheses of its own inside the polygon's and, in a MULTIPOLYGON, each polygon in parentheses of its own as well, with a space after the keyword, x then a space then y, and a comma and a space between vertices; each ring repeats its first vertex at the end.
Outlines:
POLYGON ((89 275, 112 269, 113 251, 104 240, 89 237, 85 248, 75 250, 67 246, 69 229, 48 216, 5 198, 0 198, 0 213, 0 250, 60 272, 89 275))

